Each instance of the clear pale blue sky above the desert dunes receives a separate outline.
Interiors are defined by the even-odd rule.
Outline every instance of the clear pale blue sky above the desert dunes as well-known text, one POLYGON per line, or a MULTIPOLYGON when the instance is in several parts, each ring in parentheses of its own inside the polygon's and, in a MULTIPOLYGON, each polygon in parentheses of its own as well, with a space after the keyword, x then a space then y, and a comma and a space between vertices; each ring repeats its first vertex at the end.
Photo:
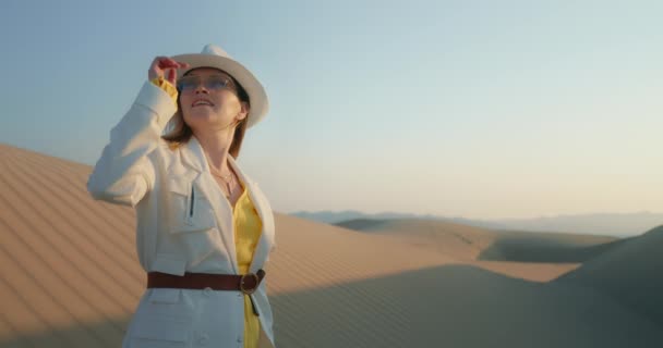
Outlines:
POLYGON ((270 97, 275 210, 663 211, 662 1, 0 1, 0 141, 94 164, 155 55, 270 97))

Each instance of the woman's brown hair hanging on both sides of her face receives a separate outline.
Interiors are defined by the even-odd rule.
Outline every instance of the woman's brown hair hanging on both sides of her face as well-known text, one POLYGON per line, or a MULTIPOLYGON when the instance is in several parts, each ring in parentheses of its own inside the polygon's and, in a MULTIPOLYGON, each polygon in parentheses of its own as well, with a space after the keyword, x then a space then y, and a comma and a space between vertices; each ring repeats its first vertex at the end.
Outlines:
MULTIPOLYGON (((191 72, 191 71, 190 71, 191 72)), ((189 73, 189 72, 188 72, 189 73)), ((224 72, 226 73, 226 72, 224 72)), ((227 73, 226 73, 227 74, 227 73)), ((186 74, 184 74, 186 75, 186 74)), ((230 76, 230 74, 228 74, 230 76)), ((230 76, 232 82, 237 86, 237 95, 240 101, 245 102, 249 105, 249 113, 251 113, 251 102, 249 100, 249 94, 246 90, 234 79, 234 77, 230 76)), ((234 127, 234 134, 232 136, 232 142, 230 144, 230 149, 228 153, 232 156, 232 158, 237 159, 240 156, 240 149, 242 147, 242 142, 244 140, 244 134, 246 133, 246 122, 249 121, 249 115, 240 121, 234 127)), ((178 111, 174 113, 170 122, 173 123, 173 128, 168 134, 161 136, 161 139, 168 141, 168 146, 171 150, 177 149, 180 145, 189 142, 191 137, 193 136, 193 130, 191 127, 184 122, 184 116, 182 115, 182 107, 180 105, 180 96, 178 94, 178 111)))

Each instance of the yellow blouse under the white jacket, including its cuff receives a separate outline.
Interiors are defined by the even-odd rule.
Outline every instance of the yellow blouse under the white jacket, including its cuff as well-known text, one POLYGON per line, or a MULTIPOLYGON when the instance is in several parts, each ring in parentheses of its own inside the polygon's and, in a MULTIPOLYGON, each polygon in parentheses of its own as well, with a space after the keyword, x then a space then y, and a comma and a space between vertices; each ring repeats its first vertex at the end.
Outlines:
MULTIPOLYGON (((178 90, 162 77, 152 80, 153 84, 164 89, 177 103, 178 90)), ((241 274, 246 274, 253 260, 253 253, 261 237, 263 222, 249 197, 244 183, 242 195, 232 207, 232 220, 234 224, 234 247, 237 249, 237 263, 241 274)), ((261 323, 257 315, 253 313, 251 297, 244 295, 244 348, 257 348, 261 333, 261 323)))

